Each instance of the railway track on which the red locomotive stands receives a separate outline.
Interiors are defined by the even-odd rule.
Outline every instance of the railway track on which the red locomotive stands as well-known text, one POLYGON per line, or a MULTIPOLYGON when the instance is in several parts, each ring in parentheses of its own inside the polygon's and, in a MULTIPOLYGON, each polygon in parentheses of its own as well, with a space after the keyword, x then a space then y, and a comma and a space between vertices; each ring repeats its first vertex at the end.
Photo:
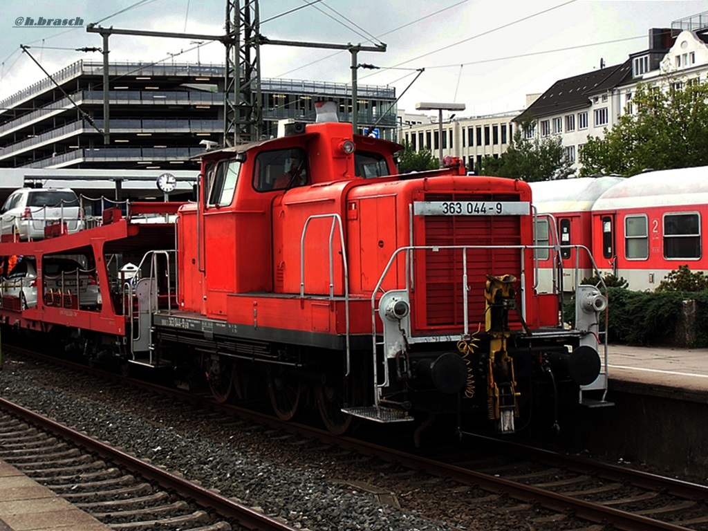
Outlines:
MULTIPOLYGON (((173 393, 164 388, 159 388, 159 392, 173 393)), ((229 422, 229 419, 233 422, 232 416, 236 414, 233 406, 203 404, 198 396, 182 392, 171 396, 201 404, 198 407, 216 409, 212 414, 223 416, 217 423, 229 422)), ((469 457, 469 452, 459 452, 459 448, 455 455, 426 458, 354 438, 335 437, 307 426, 281 423, 258 413, 238 411, 240 416, 255 419, 254 422, 268 423, 268 436, 278 439, 282 447, 292 445, 293 455, 302 455, 304 435, 324 443, 317 447, 317 452, 332 455, 341 467, 346 468, 348 460, 365 463, 362 468, 368 470, 368 474, 353 473, 341 483, 368 489, 377 494, 382 503, 392 500, 416 503, 415 496, 404 497, 400 491, 413 491, 416 481, 433 484, 444 479, 445 488, 438 489, 438 495, 445 498, 447 489, 454 494, 459 506, 476 504, 480 499, 488 506, 495 506, 502 503, 501 500, 510 499, 515 502, 503 502, 508 511, 519 514, 527 511, 539 525, 547 522, 560 525, 558 528, 562 529, 580 529, 590 522, 595 523, 597 529, 612 525, 629 531, 708 530, 708 488, 687 481, 481 438, 474 440, 474 458, 469 457), (297 435, 284 435, 287 430, 297 435), (482 447, 491 450, 480 456, 482 447), (370 473, 372 469, 375 474, 370 473), (465 498, 471 491, 476 491, 474 499, 465 498), (461 493, 464 496, 460 496, 461 493), (542 508, 540 515, 539 508, 542 508)), ((450 500, 439 503, 445 507, 450 500)), ((449 513, 459 508, 446 510, 449 513)))

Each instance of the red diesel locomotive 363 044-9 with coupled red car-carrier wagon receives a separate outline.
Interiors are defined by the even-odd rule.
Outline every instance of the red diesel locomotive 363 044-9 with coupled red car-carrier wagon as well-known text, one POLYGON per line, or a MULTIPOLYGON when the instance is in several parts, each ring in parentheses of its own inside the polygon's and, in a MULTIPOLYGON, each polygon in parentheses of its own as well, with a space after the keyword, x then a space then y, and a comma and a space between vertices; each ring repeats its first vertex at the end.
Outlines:
POLYGON ((3 297, 4 322, 70 336, 88 358, 205 375, 219 401, 267 387, 278 416, 316 404, 335 433, 430 415, 512 433, 559 401, 607 404, 605 300, 578 287, 568 327, 558 297, 533 289, 527 183, 457 160, 397 175, 401 146, 346 123, 288 133, 205 152, 175 223, 129 205, 78 234, 4 241, 1 254, 33 256, 39 290, 26 309, 3 297), (95 271, 99 307, 46 292, 56 255, 95 271))

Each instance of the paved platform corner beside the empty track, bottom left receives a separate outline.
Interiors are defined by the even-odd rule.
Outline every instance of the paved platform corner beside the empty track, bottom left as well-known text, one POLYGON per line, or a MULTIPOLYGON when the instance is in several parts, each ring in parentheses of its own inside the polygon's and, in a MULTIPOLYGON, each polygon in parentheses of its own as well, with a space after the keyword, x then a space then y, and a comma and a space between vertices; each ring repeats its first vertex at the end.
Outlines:
POLYGON ((0 531, 109 531, 110 527, 0 461, 0 531))

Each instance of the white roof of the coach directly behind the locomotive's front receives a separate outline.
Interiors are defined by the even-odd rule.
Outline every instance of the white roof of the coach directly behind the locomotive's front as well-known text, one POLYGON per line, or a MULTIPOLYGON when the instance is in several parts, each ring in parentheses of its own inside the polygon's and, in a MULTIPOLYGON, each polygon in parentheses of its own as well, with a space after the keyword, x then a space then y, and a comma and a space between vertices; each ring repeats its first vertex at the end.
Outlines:
POLYGON ((581 177, 529 183, 531 202, 539 214, 590 210, 605 190, 625 181, 623 177, 581 177))

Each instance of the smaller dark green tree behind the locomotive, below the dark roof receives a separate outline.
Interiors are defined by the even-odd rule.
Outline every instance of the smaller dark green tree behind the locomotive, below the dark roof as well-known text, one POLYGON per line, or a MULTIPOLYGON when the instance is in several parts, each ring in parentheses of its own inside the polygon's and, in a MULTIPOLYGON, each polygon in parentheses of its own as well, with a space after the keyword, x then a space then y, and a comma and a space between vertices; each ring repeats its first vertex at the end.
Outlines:
POLYGON ((480 175, 522 179, 527 183, 564 179, 573 173, 572 164, 566 159, 559 136, 539 138, 523 134, 535 127, 535 119, 527 116, 520 120, 506 153, 498 159, 485 156, 479 168, 480 175))

